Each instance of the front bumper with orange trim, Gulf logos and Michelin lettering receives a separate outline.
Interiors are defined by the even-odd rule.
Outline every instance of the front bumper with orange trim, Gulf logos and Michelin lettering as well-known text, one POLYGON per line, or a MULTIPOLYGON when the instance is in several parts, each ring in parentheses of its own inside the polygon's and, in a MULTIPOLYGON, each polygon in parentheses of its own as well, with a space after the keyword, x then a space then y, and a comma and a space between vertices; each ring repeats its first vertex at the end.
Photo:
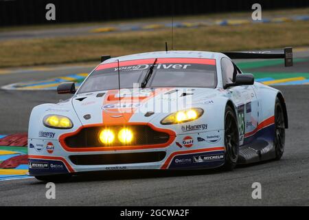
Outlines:
POLYGON ((225 163, 224 131, 175 135, 167 146, 67 151, 59 140, 28 139, 32 176, 98 170, 216 168, 225 163))

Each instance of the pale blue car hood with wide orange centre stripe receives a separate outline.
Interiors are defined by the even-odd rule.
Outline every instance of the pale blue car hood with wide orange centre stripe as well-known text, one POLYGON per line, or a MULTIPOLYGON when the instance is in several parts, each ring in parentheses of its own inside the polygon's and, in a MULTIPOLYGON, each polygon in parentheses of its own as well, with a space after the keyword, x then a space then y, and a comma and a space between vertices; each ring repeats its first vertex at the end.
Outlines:
POLYGON ((117 125, 161 120, 174 111, 214 102, 219 94, 205 88, 115 89, 78 94, 71 103, 83 125, 117 125))

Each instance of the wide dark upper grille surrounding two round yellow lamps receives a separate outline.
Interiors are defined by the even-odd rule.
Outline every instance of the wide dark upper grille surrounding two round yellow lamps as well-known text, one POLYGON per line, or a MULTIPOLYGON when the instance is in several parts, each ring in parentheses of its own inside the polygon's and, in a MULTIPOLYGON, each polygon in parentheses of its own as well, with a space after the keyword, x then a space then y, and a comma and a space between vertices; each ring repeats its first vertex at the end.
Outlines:
MULTIPOLYGON (((98 135, 104 127, 96 126, 80 130, 79 133, 65 138, 65 144, 70 148, 87 148, 87 147, 102 147, 102 146, 126 146, 117 140, 117 131, 123 126, 109 126, 108 129, 115 131, 115 142, 113 144, 102 144, 99 141, 98 135)), ((151 129, 146 125, 130 125, 134 133, 133 141, 130 146, 141 146, 148 144, 165 144, 170 139, 168 133, 159 132, 151 129)))

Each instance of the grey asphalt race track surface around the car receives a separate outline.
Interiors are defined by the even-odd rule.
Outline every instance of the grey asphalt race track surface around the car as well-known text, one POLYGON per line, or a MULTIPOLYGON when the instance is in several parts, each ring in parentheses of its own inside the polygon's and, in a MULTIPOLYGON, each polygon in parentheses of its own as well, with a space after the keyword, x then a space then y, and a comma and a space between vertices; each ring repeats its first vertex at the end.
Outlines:
MULTIPOLYGON (((284 71, 282 65, 271 68, 284 71)), ((300 72, 298 68, 308 72, 309 63, 296 63, 289 71, 300 72)), ((0 76, 0 86, 90 69, 5 74, 0 76)), ((95 173, 56 184, 56 199, 46 199, 47 188, 36 179, 0 181, 0 206, 309 206, 309 85, 277 88, 286 98, 290 126, 279 161, 241 166, 232 172, 95 173), (262 184, 262 199, 252 199, 253 182, 262 184)), ((54 91, 0 90, 0 133, 27 131, 32 107, 68 97, 54 91)))

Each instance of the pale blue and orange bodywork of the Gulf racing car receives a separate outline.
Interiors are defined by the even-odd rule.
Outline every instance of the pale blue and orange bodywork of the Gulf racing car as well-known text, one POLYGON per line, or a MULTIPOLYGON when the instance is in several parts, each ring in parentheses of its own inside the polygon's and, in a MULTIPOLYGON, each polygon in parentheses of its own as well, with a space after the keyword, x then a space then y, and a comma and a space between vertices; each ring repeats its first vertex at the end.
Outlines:
MULTIPOLYGON (((120 95, 118 89, 82 94, 78 94, 77 91, 69 100, 57 104, 38 105, 32 110, 29 122, 30 175, 80 173, 95 170, 190 169, 222 166, 225 163, 224 115, 227 104, 231 104, 238 117, 240 128, 239 162, 251 163, 273 158, 275 99, 279 97, 284 104, 283 96, 277 89, 257 82, 254 85, 224 89, 220 63, 223 57, 228 58, 225 54, 216 52, 171 51, 134 54, 104 61, 96 69, 102 65, 117 63, 117 60, 120 64, 125 61, 153 60, 154 58, 214 60, 217 85, 214 89, 201 87, 145 88, 135 89, 135 91, 121 89, 120 95), (167 94, 169 91, 176 92, 167 94), (184 93, 187 96, 181 96, 184 93), (98 94, 101 95, 97 97, 98 94), (102 96, 102 94, 104 95, 102 96), (119 96, 122 98, 120 104, 119 96), (189 96, 192 107, 204 110, 201 118, 197 120, 183 124, 163 125, 161 120, 170 112, 155 112, 148 117, 145 116, 145 112, 148 111, 146 103, 160 102, 162 107, 175 107, 176 100, 183 100, 189 96), (126 98, 130 99, 130 97, 137 98, 139 104, 136 104, 135 101, 132 102, 132 99, 130 103, 125 102, 126 98), (133 112, 119 111, 119 109, 128 108, 133 108, 133 112), (122 113, 119 115, 119 112, 122 113), (71 129, 52 129, 45 126, 43 118, 51 114, 68 117, 73 122, 73 127, 71 129), (91 115, 91 118, 85 117, 85 115, 91 115), (67 142, 65 142, 67 137, 77 134, 81 129, 119 124, 149 126, 155 131, 168 133, 169 139, 164 144, 107 147, 71 147, 67 146, 67 142), (149 156, 145 153, 154 154, 149 156), (119 164, 117 163, 119 161, 117 154, 126 154, 124 157, 132 155, 132 158, 135 158, 136 155, 135 159, 137 160, 133 159, 132 162, 124 163, 129 160, 123 159, 124 162, 119 164), (104 162, 93 164, 94 161, 98 161, 101 155, 103 155, 102 158, 107 158, 106 155, 116 158, 115 163, 108 161, 107 164, 104 162), (148 156, 151 157, 150 162, 147 161, 148 156), (152 157, 157 157, 159 160, 153 161, 152 157), (89 164, 87 164, 87 158, 89 164)), ((149 65, 151 64, 152 62, 149 63, 149 65)), ((172 65, 179 68, 181 64, 172 63, 172 65)), ((165 65, 165 67, 167 66, 165 65)), ((86 81, 87 79, 84 82, 86 81)))

